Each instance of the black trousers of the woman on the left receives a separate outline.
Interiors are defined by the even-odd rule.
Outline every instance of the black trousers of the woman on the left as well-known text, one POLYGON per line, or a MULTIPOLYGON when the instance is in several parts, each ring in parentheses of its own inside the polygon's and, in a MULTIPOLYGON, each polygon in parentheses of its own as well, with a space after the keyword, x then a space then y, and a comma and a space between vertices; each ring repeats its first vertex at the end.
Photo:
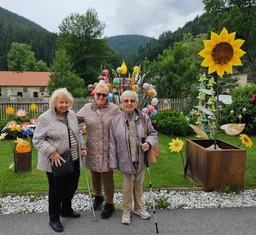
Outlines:
POLYGON ((73 162, 75 170, 67 175, 54 177, 53 173, 46 172, 49 183, 49 216, 52 222, 60 221, 61 214, 67 216, 73 212, 71 200, 80 177, 79 160, 73 162))

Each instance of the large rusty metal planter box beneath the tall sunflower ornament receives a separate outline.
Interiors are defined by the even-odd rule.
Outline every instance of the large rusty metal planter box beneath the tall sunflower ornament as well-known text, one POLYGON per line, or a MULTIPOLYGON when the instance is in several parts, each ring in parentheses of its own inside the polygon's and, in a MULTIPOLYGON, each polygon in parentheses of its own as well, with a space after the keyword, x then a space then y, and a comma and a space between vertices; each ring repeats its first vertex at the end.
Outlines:
POLYGON ((218 150, 205 149, 210 139, 186 140, 188 175, 200 183, 204 191, 222 186, 244 187, 246 150, 217 139, 218 150))

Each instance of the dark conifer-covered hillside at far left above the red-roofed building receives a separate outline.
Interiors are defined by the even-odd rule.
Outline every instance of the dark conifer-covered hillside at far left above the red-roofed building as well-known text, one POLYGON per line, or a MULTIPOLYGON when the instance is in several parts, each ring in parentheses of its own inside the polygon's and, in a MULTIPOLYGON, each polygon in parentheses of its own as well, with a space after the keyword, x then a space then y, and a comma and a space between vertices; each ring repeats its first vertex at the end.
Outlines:
POLYGON ((0 70, 8 70, 6 55, 13 42, 30 45, 35 58, 49 66, 54 57, 56 38, 57 34, 0 7, 0 70))

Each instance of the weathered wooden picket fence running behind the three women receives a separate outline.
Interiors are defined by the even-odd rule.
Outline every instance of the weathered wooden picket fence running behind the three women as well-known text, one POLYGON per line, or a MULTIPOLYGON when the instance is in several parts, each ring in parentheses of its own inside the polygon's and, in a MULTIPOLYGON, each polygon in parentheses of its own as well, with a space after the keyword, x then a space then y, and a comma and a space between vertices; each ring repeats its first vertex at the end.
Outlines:
MULTIPOLYGON (((72 109, 75 111, 75 113, 80 110, 84 104, 89 103, 94 98, 87 98, 87 99, 74 99, 74 104, 72 109)), ((32 100, 31 102, 1 102, 0 104, 0 120, 5 119, 7 116, 5 114, 5 109, 8 106, 14 107, 15 111, 18 109, 24 109, 26 111, 29 111, 29 105, 32 103, 35 103, 37 105, 37 110, 35 113, 43 113, 49 108, 49 104, 46 102, 36 102, 35 100, 32 100)), ((191 104, 189 102, 189 99, 160 99, 159 105, 157 105, 155 108, 157 111, 163 109, 163 108, 171 108, 179 111, 183 111, 184 114, 188 114, 189 111, 195 106, 197 102, 191 104)))

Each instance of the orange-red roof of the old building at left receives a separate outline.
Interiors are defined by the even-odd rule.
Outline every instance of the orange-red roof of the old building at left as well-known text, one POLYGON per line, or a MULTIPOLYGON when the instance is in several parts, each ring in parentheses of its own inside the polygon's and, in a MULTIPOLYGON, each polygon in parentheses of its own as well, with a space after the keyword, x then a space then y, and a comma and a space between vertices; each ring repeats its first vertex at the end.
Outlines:
POLYGON ((46 86, 51 72, 0 71, 0 86, 46 86))

